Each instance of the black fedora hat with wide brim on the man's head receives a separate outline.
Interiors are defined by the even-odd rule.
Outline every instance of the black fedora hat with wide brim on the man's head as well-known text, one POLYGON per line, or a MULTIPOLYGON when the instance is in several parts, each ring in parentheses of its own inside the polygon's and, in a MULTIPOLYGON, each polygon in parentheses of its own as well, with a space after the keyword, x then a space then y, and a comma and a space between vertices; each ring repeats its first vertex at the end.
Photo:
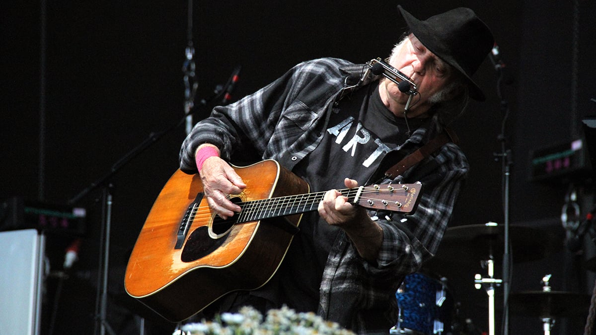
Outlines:
POLYGON ((495 44, 491 30, 470 8, 455 8, 424 21, 398 5, 410 31, 433 54, 455 67, 467 79, 470 97, 484 101, 485 95, 471 76, 495 44))

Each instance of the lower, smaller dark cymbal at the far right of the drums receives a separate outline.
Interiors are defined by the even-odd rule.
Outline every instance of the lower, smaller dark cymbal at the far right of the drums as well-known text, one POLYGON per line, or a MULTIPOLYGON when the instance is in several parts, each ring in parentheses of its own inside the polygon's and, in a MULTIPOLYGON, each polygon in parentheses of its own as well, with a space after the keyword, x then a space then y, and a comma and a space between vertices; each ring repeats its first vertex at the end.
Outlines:
POLYGON ((511 293, 513 314, 538 318, 586 317, 590 295, 565 291, 525 291, 511 293))

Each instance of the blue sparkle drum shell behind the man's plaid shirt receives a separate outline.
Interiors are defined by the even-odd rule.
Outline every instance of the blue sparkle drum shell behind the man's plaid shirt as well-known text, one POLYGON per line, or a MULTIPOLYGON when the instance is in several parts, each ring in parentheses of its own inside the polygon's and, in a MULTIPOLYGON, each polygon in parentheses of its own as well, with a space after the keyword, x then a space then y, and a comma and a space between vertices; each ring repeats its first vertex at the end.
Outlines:
POLYGON ((434 335, 451 331, 455 304, 446 279, 421 273, 407 275, 396 292, 399 320, 398 334, 434 335))

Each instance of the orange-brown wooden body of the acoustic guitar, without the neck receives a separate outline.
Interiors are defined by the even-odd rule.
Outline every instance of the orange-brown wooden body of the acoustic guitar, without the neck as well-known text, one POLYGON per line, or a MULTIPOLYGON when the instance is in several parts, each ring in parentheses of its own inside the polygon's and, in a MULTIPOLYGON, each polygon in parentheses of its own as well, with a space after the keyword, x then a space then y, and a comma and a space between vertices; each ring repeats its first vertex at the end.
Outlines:
MULTIPOLYGON (((274 160, 235 170, 247 185, 237 197, 241 201, 308 193, 306 182, 274 160)), ((177 170, 153 204, 126 268, 128 294, 172 322, 191 317, 226 293, 266 284, 293 238, 279 222, 295 229, 302 217, 244 222, 214 235, 214 215, 202 193, 198 174, 177 170), (181 222, 198 201, 199 213, 181 239, 181 222)))

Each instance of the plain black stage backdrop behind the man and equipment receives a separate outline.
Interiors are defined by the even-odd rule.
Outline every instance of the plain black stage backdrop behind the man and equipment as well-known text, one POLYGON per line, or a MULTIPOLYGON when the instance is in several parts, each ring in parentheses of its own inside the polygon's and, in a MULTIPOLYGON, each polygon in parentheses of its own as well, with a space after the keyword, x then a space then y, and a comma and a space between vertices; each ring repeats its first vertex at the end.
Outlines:
MULTIPOLYGON (((197 97, 209 96, 237 65, 242 72, 233 100, 271 82, 299 61, 330 56, 364 62, 385 57, 403 31, 397 4, 195 2, 197 97)), ((511 222, 555 231, 563 243, 559 216, 569 182, 529 182, 529 156, 536 148, 578 138, 579 120, 594 114, 596 104, 589 100, 596 95, 591 60, 596 51, 592 43, 596 29, 591 24, 595 5, 589 1, 538 5, 528 0, 401 4, 419 18, 470 7, 492 27, 511 82, 503 89, 511 108, 505 137, 514 162, 511 222), (578 34, 575 43, 574 33, 578 34)), ((151 133, 181 119, 186 1, 47 1, 44 12, 37 2, 9 0, 1 6, 0 198, 66 204, 151 133), (44 41, 41 17, 46 18, 45 47, 40 46, 44 41), (41 92, 45 92, 43 99, 41 92)), ((476 78, 488 100, 471 103, 454 125, 472 169, 452 226, 501 224, 504 218, 501 163, 494 159, 501 149, 498 135, 504 114, 490 61, 476 78)), ((123 315, 131 304, 136 306, 123 294, 123 268, 154 198, 177 168, 183 138, 184 128, 170 132, 110 179, 114 185, 110 283, 114 296, 122 298, 111 301, 115 311, 111 322, 119 324, 122 333, 123 315)), ((592 193, 587 182, 578 185, 585 191, 583 212, 592 193)), ((75 267, 77 275, 67 281, 61 296, 57 329, 88 333, 93 327, 99 196, 100 190, 95 190, 78 203, 88 209, 88 230, 75 267)), ((554 289, 589 292, 584 273, 569 271, 576 263, 562 249, 548 259, 516 264, 513 289, 539 290, 540 278, 552 272, 554 289)), ((472 283, 477 272, 485 273, 480 268, 458 269, 448 277, 462 302, 462 316, 486 330, 486 293, 474 290, 472 283)), ((584 321, 585 315, 563 320, 555 332, 575 330, 584 321)), ((533 318, 514 316, 512 322, 514 330, 541 331, 539 320, 533 318)))

